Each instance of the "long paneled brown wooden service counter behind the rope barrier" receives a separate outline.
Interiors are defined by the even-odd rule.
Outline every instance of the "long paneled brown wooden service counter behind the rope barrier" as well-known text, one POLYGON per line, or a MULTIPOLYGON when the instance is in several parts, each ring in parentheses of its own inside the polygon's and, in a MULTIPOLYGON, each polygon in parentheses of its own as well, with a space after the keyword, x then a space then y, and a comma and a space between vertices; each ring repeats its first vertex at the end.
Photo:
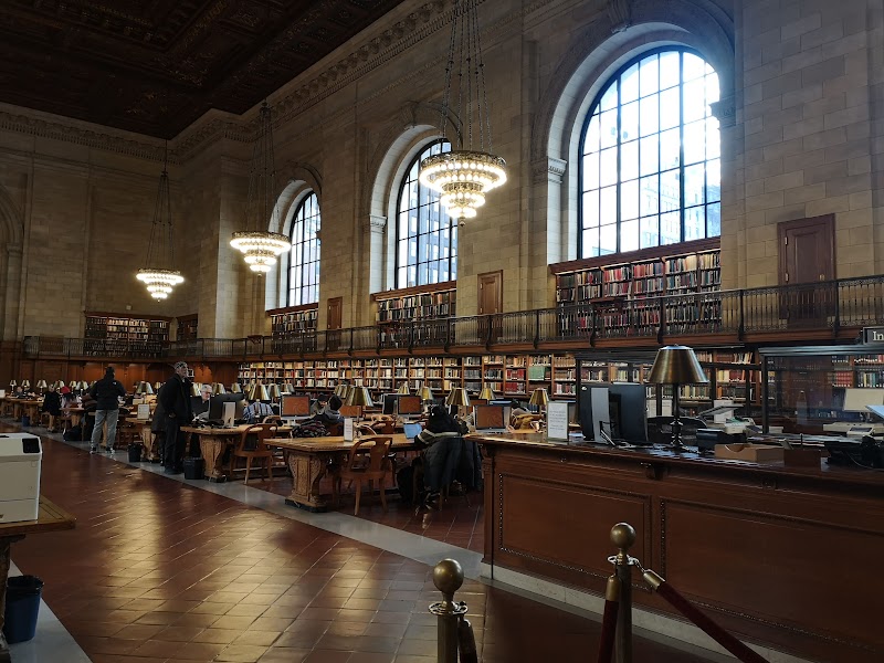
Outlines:
MULTIPOLYGON (((470 435, 483 445, 484 562, 604 593, 610 530, 748 641, 814 661, 884 661, 884 473, 470 435)), ((640 582, 635 604, 673 611, 640 582)))

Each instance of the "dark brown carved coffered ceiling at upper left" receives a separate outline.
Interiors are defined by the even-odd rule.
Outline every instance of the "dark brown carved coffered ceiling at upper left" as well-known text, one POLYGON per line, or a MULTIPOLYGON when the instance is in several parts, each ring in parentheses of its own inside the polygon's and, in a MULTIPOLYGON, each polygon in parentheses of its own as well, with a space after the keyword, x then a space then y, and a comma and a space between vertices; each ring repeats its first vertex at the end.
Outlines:
POLYGON ((241 114, 403 0, 1 0, 0 102, 171 138, 241 114))

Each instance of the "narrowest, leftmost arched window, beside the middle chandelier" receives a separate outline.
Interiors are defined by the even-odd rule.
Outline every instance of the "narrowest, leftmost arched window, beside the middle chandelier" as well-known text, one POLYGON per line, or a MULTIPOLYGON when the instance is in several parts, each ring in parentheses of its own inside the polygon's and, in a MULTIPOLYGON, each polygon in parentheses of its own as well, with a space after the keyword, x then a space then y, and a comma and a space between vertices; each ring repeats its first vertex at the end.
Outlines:
POLYGON ((319 199, 311 192, 292 217, 288 306, 319 301, 319 199))

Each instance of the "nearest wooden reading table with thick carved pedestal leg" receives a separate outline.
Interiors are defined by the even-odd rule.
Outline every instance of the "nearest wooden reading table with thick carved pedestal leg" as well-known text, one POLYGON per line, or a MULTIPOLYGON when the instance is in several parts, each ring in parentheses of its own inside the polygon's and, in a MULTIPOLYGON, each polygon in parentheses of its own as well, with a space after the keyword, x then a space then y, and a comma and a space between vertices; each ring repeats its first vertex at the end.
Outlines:
MULTIPOLYGON (((393 441, 390 451, 418 449, 414 441, 402 433, 391 436, 393 441)), ((312 512, 328 511, 328 495, 319 492, 319 482, 328 474, 329 465, 343 464, 352 449, 352 441, 346 441, 343 436, 271 438, 265 440, 265 444, 285 451, 286 462, 292 471, 292 494, 285 503, 312 512)))

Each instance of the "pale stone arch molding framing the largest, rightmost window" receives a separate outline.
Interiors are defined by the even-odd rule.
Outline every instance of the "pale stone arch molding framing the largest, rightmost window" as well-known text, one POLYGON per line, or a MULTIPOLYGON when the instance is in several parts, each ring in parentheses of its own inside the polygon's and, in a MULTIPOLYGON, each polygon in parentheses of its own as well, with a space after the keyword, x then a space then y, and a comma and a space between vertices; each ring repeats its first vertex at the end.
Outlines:
MULTIPOLYGON (((718 74, 722 102, 717 109, 727 115, 730 108, 733 113, 733 21, 706 0, 632 7, 632 23, 628 29, 612 34, 612 24, 599 20, 573 38, 538 105, 532 141, 533 185, 540 187, 541 193, 546 189, 546 196, 538 199, 545 200, 550 231, 559 229, 560 236, 559 242, 548 244, 548 263, 577 257, 580 227, 577 165, 583 120, 611 76, 630 60, 663 46, 696 51, 718 74)), ((728 123, 723 120, 723 160, 727 151, 726 126, 728 123)))

